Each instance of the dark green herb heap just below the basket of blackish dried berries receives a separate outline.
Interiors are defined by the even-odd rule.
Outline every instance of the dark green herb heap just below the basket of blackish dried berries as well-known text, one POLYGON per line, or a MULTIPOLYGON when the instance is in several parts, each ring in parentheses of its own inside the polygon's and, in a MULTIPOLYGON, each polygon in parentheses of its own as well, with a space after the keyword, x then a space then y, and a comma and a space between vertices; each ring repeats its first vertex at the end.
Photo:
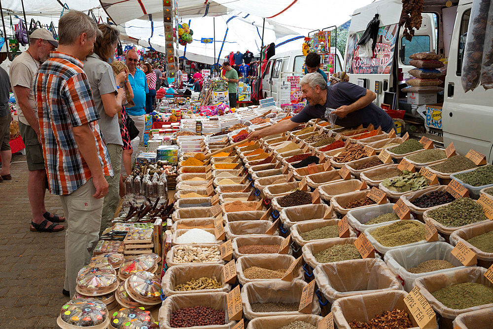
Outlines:
POLYGON ((444 226, 458 227, 487 220, 483 207, 470 198, 459 198, 428 212, 428 217, 444 226))

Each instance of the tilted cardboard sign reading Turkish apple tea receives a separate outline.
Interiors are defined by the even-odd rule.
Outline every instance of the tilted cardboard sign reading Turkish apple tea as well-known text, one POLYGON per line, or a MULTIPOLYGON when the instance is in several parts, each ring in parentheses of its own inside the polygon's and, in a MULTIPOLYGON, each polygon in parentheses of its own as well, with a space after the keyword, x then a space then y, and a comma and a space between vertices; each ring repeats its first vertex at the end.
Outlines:
POLYGON ((436 328, 435 311, 433 311, 418 287, 414 287, 413 290, 404 297, 404 303, 421 329, 436 328))

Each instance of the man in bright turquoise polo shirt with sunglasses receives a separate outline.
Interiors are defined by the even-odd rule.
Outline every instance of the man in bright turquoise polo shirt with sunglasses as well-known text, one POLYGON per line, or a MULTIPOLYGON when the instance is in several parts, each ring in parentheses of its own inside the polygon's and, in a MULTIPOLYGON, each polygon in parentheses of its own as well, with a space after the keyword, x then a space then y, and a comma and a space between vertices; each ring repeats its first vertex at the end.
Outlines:
POLYGON ((137 68, 139 62, 139 55, 135 49, 129 49, 125 57, 125 63, 127 64, 129 74, 128 80, 132 91, 134 92, 135 106, 126 108, 129 117, 134 120, 136 128, 139 130, 140 143, 143 143, 144 129, 145 129, 145 94, 149 92, 147 87, 147 81, 145 79, 145 73, 141 69, 137 68))

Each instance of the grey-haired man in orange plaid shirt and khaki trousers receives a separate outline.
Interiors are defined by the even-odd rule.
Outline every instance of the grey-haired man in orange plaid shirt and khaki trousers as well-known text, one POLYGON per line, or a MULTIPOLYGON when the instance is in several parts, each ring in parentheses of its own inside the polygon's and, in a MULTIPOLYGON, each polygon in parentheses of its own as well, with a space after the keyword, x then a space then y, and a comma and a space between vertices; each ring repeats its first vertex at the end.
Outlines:
POLYGON ((80 268, 89 263, 99 239, 105 176, 112 176, 100 118, 82 61, 93 50, 96 23, 70 10, 58 23, 58 51, 50 53, 35 75, 41 145, 50 192, 61 196, 69 223, 65 235, 63 293, 75 293, 80 268))

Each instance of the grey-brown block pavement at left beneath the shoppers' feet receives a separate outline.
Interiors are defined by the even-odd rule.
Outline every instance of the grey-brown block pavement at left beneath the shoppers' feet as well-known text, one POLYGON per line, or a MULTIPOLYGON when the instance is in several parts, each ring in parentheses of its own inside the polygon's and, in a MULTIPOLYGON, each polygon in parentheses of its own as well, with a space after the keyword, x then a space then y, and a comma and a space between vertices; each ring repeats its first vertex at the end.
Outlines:
MULTIPOLYGON (((12 156, 12 181, 0 183, 0 328, 58 328, 56 317, 69 297, 65 277, 65 231, 29 230, 26 157, 12 156)), ((46 193, 46 209, 63 215, 58 196, 46 193)))

